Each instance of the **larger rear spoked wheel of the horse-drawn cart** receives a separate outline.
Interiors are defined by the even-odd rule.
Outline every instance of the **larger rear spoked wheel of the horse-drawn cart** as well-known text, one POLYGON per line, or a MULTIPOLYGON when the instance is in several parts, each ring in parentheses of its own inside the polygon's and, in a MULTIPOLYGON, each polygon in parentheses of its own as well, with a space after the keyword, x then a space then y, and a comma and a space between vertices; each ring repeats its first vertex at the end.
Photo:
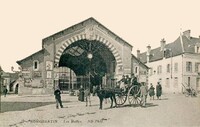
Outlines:
POLYGON ((139 86, 132 86, 128 91, 128 101, 130 105, 138 106, 141 104, 139 86))

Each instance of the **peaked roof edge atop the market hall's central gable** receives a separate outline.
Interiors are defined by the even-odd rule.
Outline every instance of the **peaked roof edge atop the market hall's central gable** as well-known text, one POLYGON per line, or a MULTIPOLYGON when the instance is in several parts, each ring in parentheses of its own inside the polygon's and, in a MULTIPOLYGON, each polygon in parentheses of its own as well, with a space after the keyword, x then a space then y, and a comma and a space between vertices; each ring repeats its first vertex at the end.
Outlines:
POLYGON ((115 33, 113 33, 112 31, 110 31, 108 28, 106 28, 104 25, 102 25, 101 23, 99 23, 96 19, 94 19, 93 17, 90 17, 78 24, 75 24, 71 27, 68 27, 67 29, 64 29, 60 32, 57 32, 49 37, 46 37, 42 40, 42 43, 44 44, 45 42, 48 42, 49 40, 54 40, 57 38, 60 38, 62 36, 65 36, 68 33, 71 33, 73 31, 75 31, 76 29, 80 29, 83 28, 84 26, 87 26, 88 23, 92 23, 95 25, 98 25, 100 28, 102 28, 103 30, 105 30, 109 35, 112 35, 115 39, 124 42, 125 44, 129 45, 131 48, 133 47, 131 44, 129 44, 128 42, 126 42, 125 40, 123 40, 121 37, 119 37, 118 35, 116 35, 115 33))

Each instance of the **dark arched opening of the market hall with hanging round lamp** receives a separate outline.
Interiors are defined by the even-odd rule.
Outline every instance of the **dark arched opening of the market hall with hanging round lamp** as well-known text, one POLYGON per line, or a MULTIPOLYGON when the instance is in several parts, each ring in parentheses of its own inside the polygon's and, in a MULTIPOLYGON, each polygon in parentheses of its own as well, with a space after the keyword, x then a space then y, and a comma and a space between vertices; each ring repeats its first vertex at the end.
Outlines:
POLYGON ((90 88, 94 85, 114 86, 116 58, 100 41, 82 39, 73 42, 63 50, 58 67, 68 67, 73 70, 77 79, 76 88, 80 85, 90 88))

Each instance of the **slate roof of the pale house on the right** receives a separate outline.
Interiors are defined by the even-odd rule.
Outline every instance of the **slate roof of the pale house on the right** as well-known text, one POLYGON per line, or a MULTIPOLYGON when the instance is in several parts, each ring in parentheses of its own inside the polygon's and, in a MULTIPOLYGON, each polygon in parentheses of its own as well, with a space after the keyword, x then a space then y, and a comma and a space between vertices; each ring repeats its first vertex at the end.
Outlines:
MULTIPOLYGON (((187 38, 186 36, 182 35, 182 42, 183 42, 183 48, 182 49, 182 42, 180 37, 178 37, 174 42, 168 43, 165 45, 165 49, 170 49, 172 52, 172 56, 178 56, 184 53, 195 53, 195 45, 200 44, 200 38, 194 38, 190 37, 187 38)), ((147 52, 140 53, 139 59, 143 62, 147 62, 147 52)), ((166 56, 166 58, 171 57, 171 55, 166 56)), ((157 47, 155 49, 151 49, 150 51, 150 59, 149 62, 161 60, 164 57, 164 51, 161 51, 160 47, 157 47)))

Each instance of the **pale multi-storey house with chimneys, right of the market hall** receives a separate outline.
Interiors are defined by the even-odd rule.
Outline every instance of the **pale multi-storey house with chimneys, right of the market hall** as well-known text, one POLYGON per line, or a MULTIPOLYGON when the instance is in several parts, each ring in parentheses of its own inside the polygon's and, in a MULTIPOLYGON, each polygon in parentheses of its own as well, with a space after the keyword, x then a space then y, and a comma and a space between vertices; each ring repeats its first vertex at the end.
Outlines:
POLYGON ((150 68, 149 83, 161 82, 163 92, 181 93, 185 85, 200 91, 200 37, 191 37, 190 30, 172 43, 162 39, 158 48, 149 45, 137 56, 150 68))

